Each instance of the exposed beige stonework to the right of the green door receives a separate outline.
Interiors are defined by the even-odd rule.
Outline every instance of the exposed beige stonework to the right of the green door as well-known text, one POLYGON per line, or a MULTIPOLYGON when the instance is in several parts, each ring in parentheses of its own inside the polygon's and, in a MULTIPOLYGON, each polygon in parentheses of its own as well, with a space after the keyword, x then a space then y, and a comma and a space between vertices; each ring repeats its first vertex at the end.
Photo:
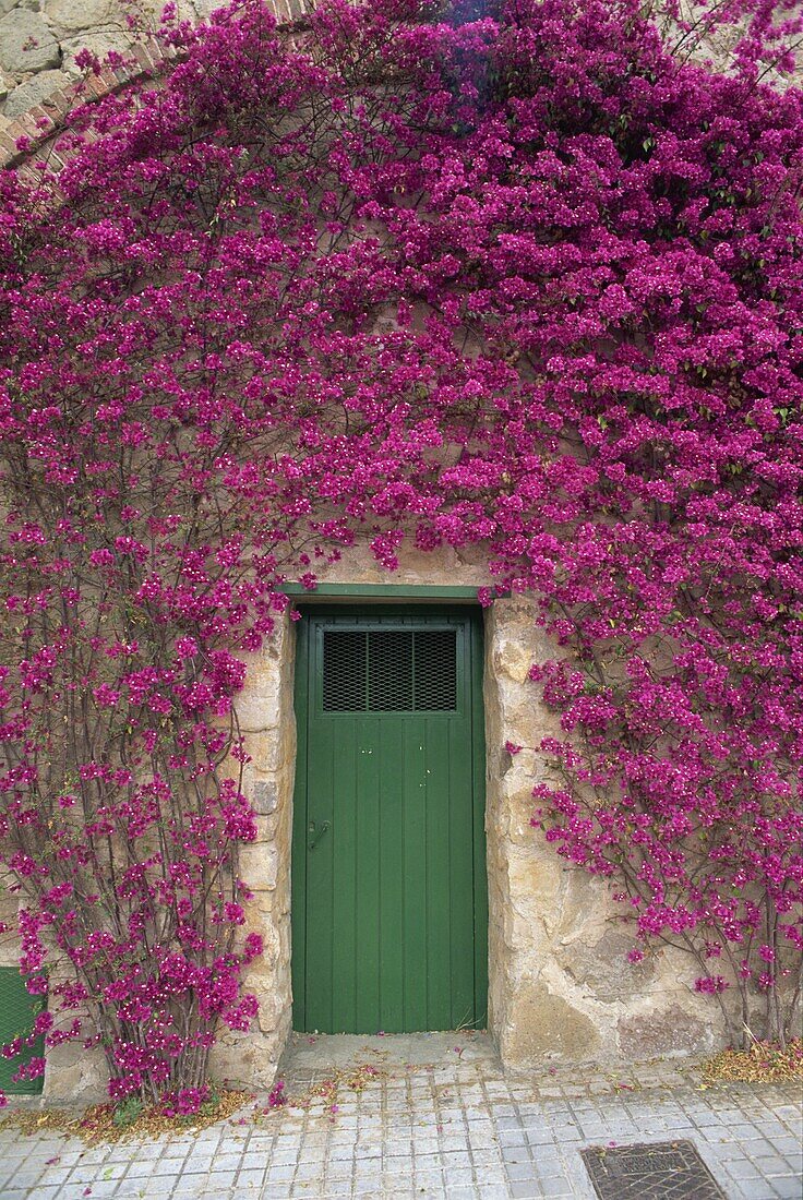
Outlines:
POLYGON ((529 824, 533 785, 549 778, 538 743, 561 732, 527 682, 553 652, 534 618, 525 598, 497 600, 486 617, 489 1024, 502 1060, 511 1070, 617 1061, 636 1038, 642 1056, 707 1049, 718 1027, 690 961, 666 952, 628 964, 606 886, 563 864, 529 824))

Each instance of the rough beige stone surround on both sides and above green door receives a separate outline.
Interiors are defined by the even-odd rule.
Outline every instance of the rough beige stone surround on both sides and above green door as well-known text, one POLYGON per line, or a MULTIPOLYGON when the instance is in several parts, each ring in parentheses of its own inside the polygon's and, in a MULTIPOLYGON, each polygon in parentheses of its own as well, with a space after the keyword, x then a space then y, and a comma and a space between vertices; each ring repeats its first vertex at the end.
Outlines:
MULTIPOLYGON (((463 602, 477 602, 477 588, 489 578, 479 560, 455 551, 409 552, 389 575, 367 551, 355 550, 320 583, 322 604, 454 605, 456 589, 463 602)), ((305 602, 313 598, 304 593, 305 602)), ((606 886, 565 864, 531 826, 532 788, 547 778, 538 743, 562 736, 528 679, 533 662, 555 654, 537 617, 532 596, 499 599, 485 611, 489 1032, 513 1073, 543 1072, 552 1062, 706 1051, 718 1034, 705 1000, 694 994, 691 964, 667 949, 631 966, 631 940, 606 886), (511 755, 507 743, 522 749, 511 755)), ((265 953, 247 980, 259 998, 258 1025, 246 1036, 223 1033, 212 1067, 253 1086, 272 1081, 292 1032, 293 625, 286 614, 250 661, 238 701, 251 756, 245 790, 259 824, 258 841, 241 854, 242 877, 254 890, 247 929, 262 934, 265 953)))

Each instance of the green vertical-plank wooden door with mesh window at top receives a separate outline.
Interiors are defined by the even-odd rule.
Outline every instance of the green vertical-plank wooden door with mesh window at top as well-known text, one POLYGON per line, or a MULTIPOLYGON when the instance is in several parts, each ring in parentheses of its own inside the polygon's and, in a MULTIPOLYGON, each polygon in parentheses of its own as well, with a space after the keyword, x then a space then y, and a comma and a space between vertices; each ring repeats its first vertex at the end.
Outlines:
POLYGON ((483 1027, 483 637, 471 608, 299 623, 294 1027, 483 1027))

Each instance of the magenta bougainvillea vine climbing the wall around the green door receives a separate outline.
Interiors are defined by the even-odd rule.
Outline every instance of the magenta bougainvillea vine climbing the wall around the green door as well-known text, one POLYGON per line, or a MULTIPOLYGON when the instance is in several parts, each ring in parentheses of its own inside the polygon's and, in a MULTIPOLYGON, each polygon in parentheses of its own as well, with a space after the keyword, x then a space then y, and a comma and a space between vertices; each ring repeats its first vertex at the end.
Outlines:
POLYGON ((534 823, 634 961, 685 946, 732 1036, 783 1039, 801 92, 681 62, 636 0, 168 28, 160 82, 0 180, 0 839, 29 989, 68 964, 29 1044, 203 1103, 257 1010, 242 653, 362 538, 390 571, 481 545, 484 604, 539 598, 534 823))

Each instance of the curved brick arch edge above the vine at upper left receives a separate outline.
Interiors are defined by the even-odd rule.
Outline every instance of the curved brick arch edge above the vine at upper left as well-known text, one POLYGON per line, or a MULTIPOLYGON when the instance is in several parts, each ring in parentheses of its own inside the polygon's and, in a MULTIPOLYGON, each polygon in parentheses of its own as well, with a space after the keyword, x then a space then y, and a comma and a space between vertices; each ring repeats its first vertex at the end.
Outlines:
MULTIPOLYGON (((288 35, 300 32, 306 16, 314 10, 316 0, 264 0, 288 35)), ((58 88, 46 100, 10 121, 0 130, 0 169, 16 169, 23 179, 40 179, 37 161, 59 172, 65 162, 58 139, 65 130, 67 115, 80 104, 92 103, 104 96, 124 91, 148 79, 163 74, 172 62, 180 60, 180 52, 164 46, 155 37, 134 42, 125 66, 102 67, 100 74, 58 88)), ((70 151, 66 151, 68 156, 70 151)))

